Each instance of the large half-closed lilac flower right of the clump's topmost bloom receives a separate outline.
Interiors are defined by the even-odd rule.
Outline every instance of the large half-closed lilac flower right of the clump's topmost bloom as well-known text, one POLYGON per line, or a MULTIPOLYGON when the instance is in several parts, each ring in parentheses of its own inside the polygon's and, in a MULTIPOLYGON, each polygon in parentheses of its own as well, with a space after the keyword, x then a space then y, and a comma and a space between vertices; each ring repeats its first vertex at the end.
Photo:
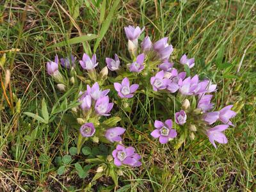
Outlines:
POLYGON ((168 43, 168 37, 161 38, 161 40, 158 40, 154 45, 153 49, 157 52, 160 60, 168 60, 170 58, 170 55, 173 52, 172 45, 169 45, 168 43))

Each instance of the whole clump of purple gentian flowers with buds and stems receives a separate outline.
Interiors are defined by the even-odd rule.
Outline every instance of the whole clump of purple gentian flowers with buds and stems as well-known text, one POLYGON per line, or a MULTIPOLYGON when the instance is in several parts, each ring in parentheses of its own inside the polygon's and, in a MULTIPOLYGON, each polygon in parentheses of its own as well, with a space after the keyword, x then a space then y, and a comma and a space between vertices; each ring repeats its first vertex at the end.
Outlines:
MULTIPOLYGON (((144 99, 143 94, 147 93, 150 93, 148 97, 154 97, 152 95, 156 94, 164 99, 173 100, 173 108, 170 108, 167 102, 166 106, 163 106, 168 107, 165 114, 168 118, 164 115, 157 116, 154 123, 156 129, 145 130, 148 136, 151 135, 159 143, 177 143, 180 142, 176 139, 179 137, 184 138, 184 142, 188 136, 190 140, 194 140, 197 134, 207 136, 215 148, 215 141, 227 143, 223 131, 228 129, 229 125, 234 126, 231 119, 236 116, 236 112, 232 110, 233 105, 220 110, 214 109, 214 95, 211 93, 216 92, 217 85, 212 84, 211 79, 200 79, 200 74, 188 76, 190 72, 186 72, 196 65, 196 59, 188 58, 186 54, 180 54, 179 58, 171 57, 173 46, 168 42, 168 37, 152 42, 150 36, 141 39, 144 28, 128 26, 124 31, 131 60, 123 60, 123 57, 115 54, 114 58, 104 59, 106 67, 100 72, 96 54, 90 56, 84 53, 79 60, 80 66, 77 65, 76 57, 72 55, 61 58, 60 63, 57 55, 54 61, 47 62, 47 73, 59 83, 57 87, 61 91, 65 92, 70 86, 78 90, 76 100, 79 107, 72 109, 77 122, 81 124, 77 148, 81 148, 86 140, 99 141, 104 138, 104 141, 107 140, 115 148, 112 152, 115 166, 140 166, 141 156, 135 152, 134 147, 124 145, 122 137, 126 129, 115 127, 116 125, 109 125, 106 128, 102 121, 104 118, 115 118, 111 117, 114 103, 122 104, 116 106, 115 111, 122 106, 129 108, 120 109, 121 113, 125 110, 132 111, 136 99, 144 99), (139 40, 142 40, 140 46, 139 40), (123 62, 127 60, 129 62, 125 65, 123 62), (59 70, 59 64, 63 67, 62 70, 59 70), (61 72, 65 69, 70 70, 64 75, 61 72), (109 79, 108 70, 113 74, 109 79)), ((157 98, 159 97, 154 99, 157 98)), ((124 124, 125 122, 122 125, 124 124)), ((182 143, 177 143, 175 148, 179 148, 180 145, 182 143)))

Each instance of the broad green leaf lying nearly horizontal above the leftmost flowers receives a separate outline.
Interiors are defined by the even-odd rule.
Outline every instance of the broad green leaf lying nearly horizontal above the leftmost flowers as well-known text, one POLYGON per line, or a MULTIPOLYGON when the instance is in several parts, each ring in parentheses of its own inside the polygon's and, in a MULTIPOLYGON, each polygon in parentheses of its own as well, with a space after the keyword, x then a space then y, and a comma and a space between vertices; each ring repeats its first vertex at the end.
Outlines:
POLYGON ((93 40, 97 38, 97 35, 95 34, 87 34, 87 35, 83 35, 83 36, 77 36, 77 37, 74 37, 74 38, 70 38, 68 40, 65 40, 63 42, 60 42, 58 44, 54 44, 54 45, 51 45, 49 47, 47 47, 47 49, 49 48, 54 48, 54 47, 63 47, 67 44, 69 45, 72 45, 72 44, 79 44, 81 42, 86 42, 86 41, 90 41, 90 40, 93 40))

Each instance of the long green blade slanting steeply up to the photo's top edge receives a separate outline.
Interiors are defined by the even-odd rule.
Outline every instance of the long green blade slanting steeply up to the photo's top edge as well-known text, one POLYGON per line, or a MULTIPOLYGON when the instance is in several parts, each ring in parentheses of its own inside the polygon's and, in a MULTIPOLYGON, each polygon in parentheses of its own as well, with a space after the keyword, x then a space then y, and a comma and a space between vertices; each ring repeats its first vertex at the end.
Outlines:
POLYGON ((99 47, 99 44, 102 40, 102 38, 104 37, 104 35, 106 34, 106 32, 108 31, 108 28, 111 24, 111 20, 113 19, 113 15, 116 11, 116 8, 120 2, 120 0, 116 0, 114 1, 115 3, 113 4, 113 6, 111 7, 111 10, 108 13, 108 16, 106 17, 106 19, 104 20, 102 27, 100 28, 100 32, 99 32, 99 37, 97 38, 97 41, 94 45, 93 51, 96 52, 97 48, 99 47))

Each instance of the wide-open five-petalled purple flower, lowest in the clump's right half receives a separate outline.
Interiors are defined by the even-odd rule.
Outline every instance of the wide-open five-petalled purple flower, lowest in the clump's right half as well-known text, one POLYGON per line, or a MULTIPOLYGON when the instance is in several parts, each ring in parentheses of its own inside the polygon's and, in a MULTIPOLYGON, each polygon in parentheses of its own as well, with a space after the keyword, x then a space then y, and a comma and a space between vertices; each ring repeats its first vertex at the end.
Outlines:
POLYGON ((164 123, 156 120, 154 126, 156 129, 150 134, 154 138, 159 138, 161 144, 168 143, 169 139, 177 136, 175 129, 172 129, 172 120, 168 119, 164 123))

